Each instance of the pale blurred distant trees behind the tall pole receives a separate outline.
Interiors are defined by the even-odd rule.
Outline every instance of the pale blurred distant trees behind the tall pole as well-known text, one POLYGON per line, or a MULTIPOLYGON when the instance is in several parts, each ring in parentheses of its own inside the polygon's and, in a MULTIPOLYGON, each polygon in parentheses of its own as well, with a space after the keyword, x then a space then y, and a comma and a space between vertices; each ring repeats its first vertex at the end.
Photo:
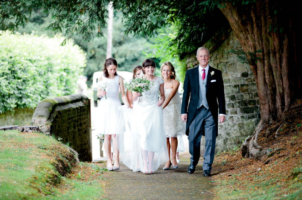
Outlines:
MULTIPOLYGON (((43 8, 33 8, 31 15, 26 14, 27 23, 24 26, 18 27, 20 33, 32 33, 42 35, 47 34, 49 37, 53 37, 58 30, 45 30, 47 26, 53 23, 52 13, 45 13, 43 8)), ((117 59, 119 65, 119 71, 132 71, 136 65, 141 65, 145 59, 145 53, 150 53, 151 49, 146 47, 150 45, 149 38, 141 34, 134 35, 130 33, 124 34, 125 27, 122 24, 122 12, 120 10, 114 10, 114 24, 113 24, 113 48, 112 56, 117 59)), ((70 35, 74 43, 79 45, 86 53, 86 67, 84 68, 83 75, 88 77, 87 84, 91 85, 92 75, 95 71, 101 71, 106 59, 106 46, 107 46, 107 25, 100 29, 104 33, 104 37, 97 37, 97 30, 94 30, 92 39, 90 41, 84 41, 82 35, 70 35)), ((65 30, 62 30, 65 34, 65 30)), ((62 41, 64 38, 62 39, 62 41)))

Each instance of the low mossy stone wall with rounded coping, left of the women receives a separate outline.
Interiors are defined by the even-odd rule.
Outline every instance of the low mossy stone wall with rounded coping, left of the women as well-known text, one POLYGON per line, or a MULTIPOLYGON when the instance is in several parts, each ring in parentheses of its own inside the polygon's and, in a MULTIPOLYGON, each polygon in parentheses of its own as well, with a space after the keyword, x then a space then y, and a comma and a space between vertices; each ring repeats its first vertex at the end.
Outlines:
POLYGON ((85 95, 44 99, 37 105, 31 122, 64 144, 70 142, 80 160, 92 160, 90 101, 85 95))

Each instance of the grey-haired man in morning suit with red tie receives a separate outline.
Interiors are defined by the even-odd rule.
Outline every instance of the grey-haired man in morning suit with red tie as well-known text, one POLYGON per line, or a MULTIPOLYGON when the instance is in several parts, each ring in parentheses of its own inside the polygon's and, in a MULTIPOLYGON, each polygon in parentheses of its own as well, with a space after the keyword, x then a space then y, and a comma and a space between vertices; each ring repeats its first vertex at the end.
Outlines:
POLYGON ((194 173, 200 157, 201 136, 205 137, 204 176, 211 176, 218 135, 218 107, 220 124, 225 119, 225 99, 222 73, 209 66, 209 51, 197 50, 199 66, 186 71, 182 97, 182 120, 186 121, 191 164, 188 173, 194 173), (189 103, 190 99, 190 103, 189 103), (217 105, 218 100, 218 105, 217 105))

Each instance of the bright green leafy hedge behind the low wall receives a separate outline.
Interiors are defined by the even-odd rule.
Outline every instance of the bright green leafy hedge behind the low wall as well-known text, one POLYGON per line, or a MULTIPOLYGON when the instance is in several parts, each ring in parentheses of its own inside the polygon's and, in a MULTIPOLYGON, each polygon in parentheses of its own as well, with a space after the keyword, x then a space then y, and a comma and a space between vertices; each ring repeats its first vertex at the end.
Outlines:
POLYGON ((61 36, 0 32, 0 113, 73 94, 85 67, 79 46, 61 36))

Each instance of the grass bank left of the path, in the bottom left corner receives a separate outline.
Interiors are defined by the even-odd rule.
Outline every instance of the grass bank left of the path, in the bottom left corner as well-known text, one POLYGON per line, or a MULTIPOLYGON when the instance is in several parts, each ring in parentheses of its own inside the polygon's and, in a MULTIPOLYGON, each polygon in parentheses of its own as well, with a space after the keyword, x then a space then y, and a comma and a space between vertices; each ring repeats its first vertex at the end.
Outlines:
POLYGON ((104 170, 49 136, 0 131, 0 199, 100 199, 104 170))

